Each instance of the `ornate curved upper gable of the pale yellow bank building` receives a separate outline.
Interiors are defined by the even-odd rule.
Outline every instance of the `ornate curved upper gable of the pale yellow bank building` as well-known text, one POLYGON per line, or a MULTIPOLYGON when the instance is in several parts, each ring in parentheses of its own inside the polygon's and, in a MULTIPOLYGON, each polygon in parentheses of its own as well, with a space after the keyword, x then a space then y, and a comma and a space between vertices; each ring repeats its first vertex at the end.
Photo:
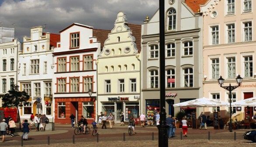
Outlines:
MULTIPOLYGON (((118 12, 117 19, 114 23, 114 28, 111 33, 108 34, 107 40, 104 42, 104 47, 99 57, 112 56, 111 52, 118 52, 121 49, 121 54, 135 54, 138 53, 138 49, 135 43, 135 37, 132 36, 130 27, 127 25, 127 19, 125 13, 118 12), (120 39, 118 39, 118 37, 120 39), (113 48, 113 44, 118 44, 118 48, 113 48), (131 51, 125 49, 130 48, 131 51)), ((116 46, 117 47, 117 46, 116 46)), ((116 55, 116 54, 114 54, 116 55)))

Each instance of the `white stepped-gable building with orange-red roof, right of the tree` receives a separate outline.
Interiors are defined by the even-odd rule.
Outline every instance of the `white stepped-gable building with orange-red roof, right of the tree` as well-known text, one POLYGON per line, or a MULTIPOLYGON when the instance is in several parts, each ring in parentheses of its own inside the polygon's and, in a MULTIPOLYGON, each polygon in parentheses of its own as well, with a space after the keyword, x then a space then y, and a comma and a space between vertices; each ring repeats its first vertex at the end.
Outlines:
POLYGON ((46 114, 52 122, 54 117, 52 101, 53 57, 59 35, 44 33, 43 27, 32 27, 30 37, 23 37, 19 53, 18 82, 21 91, 30 95, 20 110, 21 119, 29 119, 31 113, 46 114))

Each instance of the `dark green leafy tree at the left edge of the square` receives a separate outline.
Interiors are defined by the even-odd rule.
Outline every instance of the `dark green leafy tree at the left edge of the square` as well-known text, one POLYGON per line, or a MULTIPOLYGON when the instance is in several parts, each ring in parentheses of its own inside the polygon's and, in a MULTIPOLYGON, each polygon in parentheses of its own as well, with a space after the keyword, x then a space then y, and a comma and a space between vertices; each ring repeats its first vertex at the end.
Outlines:
POLYGON ((11 89, 2 98, 3 107, 16 107, 18 110, 18 117, 21 129, 21 117, 19 107, 23 106, 24 102, 27 102, 29 95, 25 91, 19 91, 19 86, 11 85, 11 89))

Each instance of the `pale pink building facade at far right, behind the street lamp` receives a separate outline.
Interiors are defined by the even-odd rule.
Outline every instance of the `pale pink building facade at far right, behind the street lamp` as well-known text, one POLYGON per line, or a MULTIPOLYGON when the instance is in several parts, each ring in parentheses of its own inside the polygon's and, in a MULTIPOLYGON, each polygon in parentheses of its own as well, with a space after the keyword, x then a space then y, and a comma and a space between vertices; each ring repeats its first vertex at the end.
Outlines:
MULTIPOLYGON (((232 91, 232 101, 256 95, 256 24, 255 0, 208 0, 201 6, 204 23, 204 97, 228 102, 228 91, 218 85, 236 86, 238 74, 242 86, 232 91)), ((252 116, 253 107, 233 107, 233 116, 252 116), (246 112, 246 113, 243 113, 246 112)), ((228 107, 205 109, 229 115, 228 107)), ((255 111, 254 111, 255 113, 255 111)))

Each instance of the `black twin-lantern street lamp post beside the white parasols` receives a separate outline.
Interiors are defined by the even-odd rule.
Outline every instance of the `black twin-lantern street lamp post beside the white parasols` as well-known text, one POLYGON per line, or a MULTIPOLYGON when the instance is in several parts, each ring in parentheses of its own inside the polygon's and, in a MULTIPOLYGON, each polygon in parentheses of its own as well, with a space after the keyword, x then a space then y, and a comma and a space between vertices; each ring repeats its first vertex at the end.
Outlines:
POLYGON ((229 104, 230 104, 230 110, 229 110, 229 111, 230 111, 230 112, 229 112, 229 114, 230 114, 229 132, 232 132, 232 121, 231 121, 231 117, 232 117, 232 107, 231 107, 232 95, 231 95, 231 92, 232 92, 235 88, 237 88, 237 87, 239 87, 239 86, 241 85, 241 83, 242 83, 242 77, 241 77, 240 75, 238 75, 238 76, 235 78, 235 80, 236 80, 238 86, 231 86, 231 84, 229 84, 229 86, 222 86, 222 84, 224 84, 224 80, 225 80, 225 79, 223 79, 222 77, 220 77, 220 78, 218 79, 218 83, 220 84, 220 86, 221 86, 222 88, 224 88, 225 90, 228 90, 228 91, 229 91, 229 94, 228 94, 229 104))

